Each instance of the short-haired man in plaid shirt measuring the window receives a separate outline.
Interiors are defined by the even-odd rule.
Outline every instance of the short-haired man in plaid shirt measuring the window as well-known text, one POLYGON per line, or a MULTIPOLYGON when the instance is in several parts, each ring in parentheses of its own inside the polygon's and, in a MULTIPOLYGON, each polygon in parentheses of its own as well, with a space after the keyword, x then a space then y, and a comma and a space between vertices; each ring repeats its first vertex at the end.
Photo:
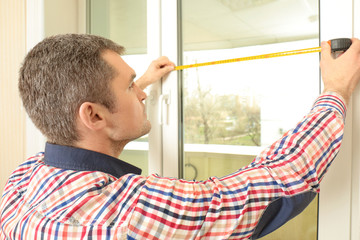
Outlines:
POLYGON ((249 166, 204 182, 140 176, 117 157, 150 130, 142 91, 174 69, 162 57, 134 83, 124 49, 91 35, 47 38, 26 56, 19 90, 45 153, 8 180, 1 239, 256 239, 300 213, 319 191, 360 79, 360 41, 333 59, 310 113, 249 166))

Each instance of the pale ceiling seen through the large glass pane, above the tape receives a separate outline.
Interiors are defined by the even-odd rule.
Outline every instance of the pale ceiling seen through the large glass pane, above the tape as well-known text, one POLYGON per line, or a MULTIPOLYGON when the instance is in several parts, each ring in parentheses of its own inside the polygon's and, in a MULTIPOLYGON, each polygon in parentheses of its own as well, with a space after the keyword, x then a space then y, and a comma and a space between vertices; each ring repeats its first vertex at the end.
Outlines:
POLYGON ((182 2, 186 50, 233 48, 318 36, 317 0, 182 2))

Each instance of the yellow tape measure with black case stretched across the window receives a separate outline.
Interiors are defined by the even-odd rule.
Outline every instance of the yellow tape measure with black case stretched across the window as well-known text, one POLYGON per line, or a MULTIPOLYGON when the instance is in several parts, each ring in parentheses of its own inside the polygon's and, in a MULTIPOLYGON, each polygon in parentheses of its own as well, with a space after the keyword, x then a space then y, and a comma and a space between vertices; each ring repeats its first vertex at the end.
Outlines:
MULTIPOLYGON (((328 43, 331 46, 332 52, 346 51, 351 45, 351 39, 350 38, 337 38, 337 39, 332 39, 332 40, 328 41, 328 43)), ((315 52, 321 52, 321 47, 304 48, 304 49, 291 50, 291 51, 285 51, 285 52, 268 53, 268 54, 261 54, 261 55, 255 55, 255 56, 249 56, 249 57, 241 57, 241 58, 233 58, 233 59, 219 60, 219 61, 213 61, 213 62, 182 65, 182 66, 176 66, 175 70, 183 70, 183 69, 187 69, 187 68, 203 67, 203 66, 210 66, 210 65, 224 64, 224 63, 243 62, 243 61, 250 61, 250 60, 257 60, 257 59, 285 57, 285 56, 292 56, 292 55, 299 55, 299 54, 306 54, 306 53, 315 53, 315 52)))

